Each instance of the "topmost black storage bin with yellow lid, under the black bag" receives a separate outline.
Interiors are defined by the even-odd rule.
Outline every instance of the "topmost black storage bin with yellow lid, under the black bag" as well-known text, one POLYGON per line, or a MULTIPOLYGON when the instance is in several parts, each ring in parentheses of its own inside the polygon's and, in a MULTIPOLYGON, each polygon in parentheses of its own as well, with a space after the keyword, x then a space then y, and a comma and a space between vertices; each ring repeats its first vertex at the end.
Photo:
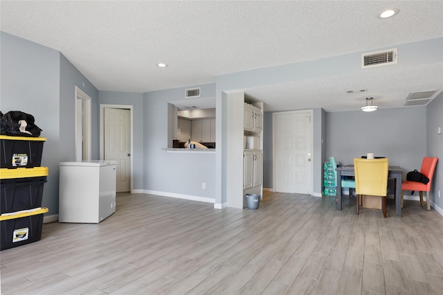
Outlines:
POLYGON ((33 168, 42 164, 43 137, 0 135, 0 168, 33 168))

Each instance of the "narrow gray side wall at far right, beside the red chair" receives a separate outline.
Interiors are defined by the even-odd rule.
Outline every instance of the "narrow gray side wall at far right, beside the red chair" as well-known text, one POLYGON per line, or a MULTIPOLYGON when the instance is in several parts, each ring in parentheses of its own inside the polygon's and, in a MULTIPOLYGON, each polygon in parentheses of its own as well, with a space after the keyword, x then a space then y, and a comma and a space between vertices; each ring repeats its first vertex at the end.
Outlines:
POLYGON ((439 159, 431 186, 431 202, 443 210, 443 92, 426 107, 426 131, 426 156, 439 159), (442 134, 437 134, 437 127, 442 134))

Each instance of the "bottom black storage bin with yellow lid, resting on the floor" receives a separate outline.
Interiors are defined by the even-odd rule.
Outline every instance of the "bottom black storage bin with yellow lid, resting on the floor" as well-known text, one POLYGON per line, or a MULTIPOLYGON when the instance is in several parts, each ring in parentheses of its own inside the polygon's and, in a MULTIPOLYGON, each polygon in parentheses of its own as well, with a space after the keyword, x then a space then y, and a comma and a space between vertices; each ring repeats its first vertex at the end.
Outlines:
POLYGON ((0 216, 1 249, 37 242, 42 238, 43 215, 48 208, 28 213, 0 216))

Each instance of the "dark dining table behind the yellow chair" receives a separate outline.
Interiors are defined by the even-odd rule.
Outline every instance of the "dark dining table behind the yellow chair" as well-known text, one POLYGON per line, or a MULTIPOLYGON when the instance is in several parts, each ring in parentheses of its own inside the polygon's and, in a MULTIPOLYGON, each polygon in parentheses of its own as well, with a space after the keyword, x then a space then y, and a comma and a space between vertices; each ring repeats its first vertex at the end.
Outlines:
MULTIPOLYGON (((341 177, 354 176, 354 165, 339 166, 337 171, 337 210, 341 210, 341 177)), ((399 166, 389 166, 388 178, 395 179, 395 217, 401 217, 401 177, 403 169, 399 166)))

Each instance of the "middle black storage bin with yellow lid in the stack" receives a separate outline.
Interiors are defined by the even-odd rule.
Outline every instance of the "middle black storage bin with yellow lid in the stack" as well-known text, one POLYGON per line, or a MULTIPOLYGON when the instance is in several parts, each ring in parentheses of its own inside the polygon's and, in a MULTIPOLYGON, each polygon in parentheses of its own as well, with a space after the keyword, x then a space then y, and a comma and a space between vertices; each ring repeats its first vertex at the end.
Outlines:
POLYGON ((0 214, 42 206, 48 168, 0 169, 0 214))

